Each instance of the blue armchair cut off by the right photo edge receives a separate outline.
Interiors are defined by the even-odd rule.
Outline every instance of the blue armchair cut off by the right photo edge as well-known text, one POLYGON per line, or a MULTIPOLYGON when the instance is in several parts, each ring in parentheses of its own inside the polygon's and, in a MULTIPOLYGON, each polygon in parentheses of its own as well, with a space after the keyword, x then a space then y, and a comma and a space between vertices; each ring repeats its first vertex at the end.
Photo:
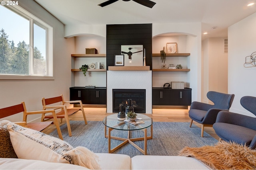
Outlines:
MULTIPOLYGON (((240 104, 256 115, 256 97, 244 96, 240 104)), ((256 149, 256 117, 220 111, 213 128, 220 139, 256 149)))

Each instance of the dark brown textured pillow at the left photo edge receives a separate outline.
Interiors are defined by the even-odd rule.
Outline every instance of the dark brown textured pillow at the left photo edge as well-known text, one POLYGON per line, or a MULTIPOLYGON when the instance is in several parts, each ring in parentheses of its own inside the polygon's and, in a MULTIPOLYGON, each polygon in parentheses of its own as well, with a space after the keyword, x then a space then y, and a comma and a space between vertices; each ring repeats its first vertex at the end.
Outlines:
POLYGON ((0 127, 0 157, 18 158, 10 140, 10 134, 7 129, 0 127))

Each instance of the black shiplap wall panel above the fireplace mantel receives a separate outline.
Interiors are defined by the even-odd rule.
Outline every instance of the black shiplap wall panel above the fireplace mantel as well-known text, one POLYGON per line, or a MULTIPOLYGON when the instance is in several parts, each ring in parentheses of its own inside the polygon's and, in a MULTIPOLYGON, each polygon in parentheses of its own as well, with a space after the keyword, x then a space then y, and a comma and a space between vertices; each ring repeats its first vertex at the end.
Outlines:
POLYGON ((121 45, 143 45, 146 65, 152 70, 152 23, 106 25, 106 31, 107 69, 114 66, 115 55, 121 54, 121 45))

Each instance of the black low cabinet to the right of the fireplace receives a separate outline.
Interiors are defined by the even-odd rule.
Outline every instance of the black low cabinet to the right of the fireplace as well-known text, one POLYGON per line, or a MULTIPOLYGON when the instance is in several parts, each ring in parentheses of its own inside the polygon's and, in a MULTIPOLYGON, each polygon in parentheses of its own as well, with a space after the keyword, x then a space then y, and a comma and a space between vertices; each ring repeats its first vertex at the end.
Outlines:
POLYGON ((152 105, 162 106, 190 106, 191 88, 153 88, 152 105))

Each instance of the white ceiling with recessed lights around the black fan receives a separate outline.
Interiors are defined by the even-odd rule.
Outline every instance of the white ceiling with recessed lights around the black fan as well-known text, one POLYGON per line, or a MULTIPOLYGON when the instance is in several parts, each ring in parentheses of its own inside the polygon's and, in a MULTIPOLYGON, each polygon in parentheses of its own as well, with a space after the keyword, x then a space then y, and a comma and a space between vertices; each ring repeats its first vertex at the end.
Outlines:
POLYGON ((34 0, 65 25, 202 23, 202 39, 228 37, 228 27, 256 12, 256 0, 152 0, 153 8, 132 0, 34 0), (212 29, 212 27, 217 27, 212 29), (203 35, 208 32, 207 35, 203 35))

